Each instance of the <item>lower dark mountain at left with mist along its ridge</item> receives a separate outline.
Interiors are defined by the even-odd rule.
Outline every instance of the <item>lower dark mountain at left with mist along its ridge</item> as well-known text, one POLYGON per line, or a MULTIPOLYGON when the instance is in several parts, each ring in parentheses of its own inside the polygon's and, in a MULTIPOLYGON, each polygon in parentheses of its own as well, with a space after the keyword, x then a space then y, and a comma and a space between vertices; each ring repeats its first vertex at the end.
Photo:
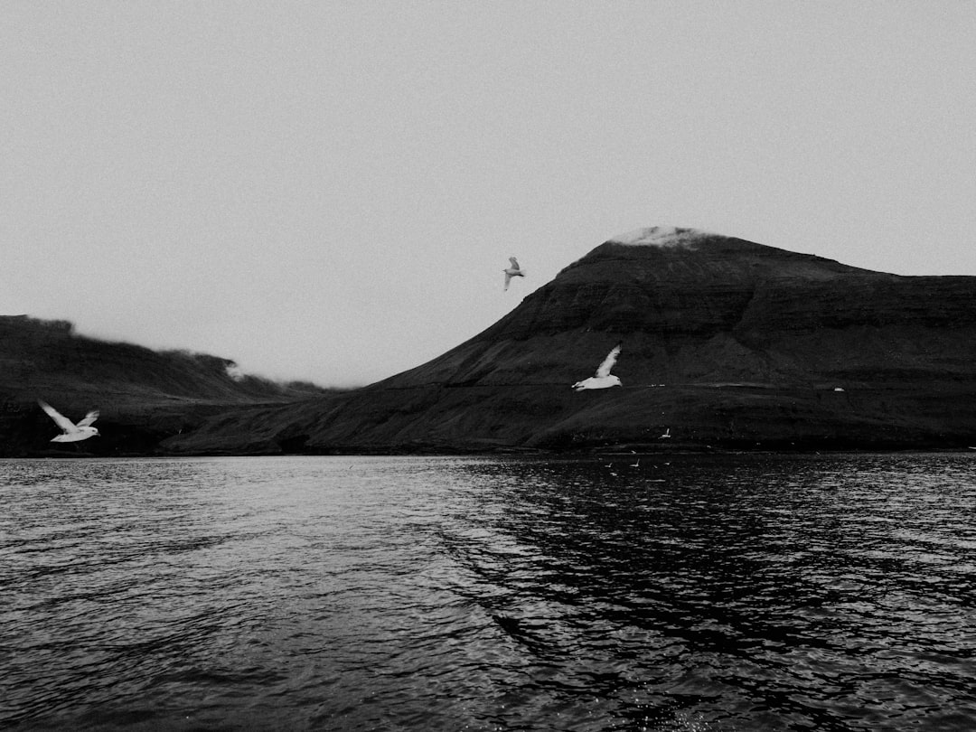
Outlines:
POLYGON ((144 454, 232 409, 291 404, 322 389, 239 373, 225 358, 157 352, 75 334, 71 323, 0 316, 0 457, 144 454), (77 421, 101 410, 101 437, 51 444, 43 399, 77 421))

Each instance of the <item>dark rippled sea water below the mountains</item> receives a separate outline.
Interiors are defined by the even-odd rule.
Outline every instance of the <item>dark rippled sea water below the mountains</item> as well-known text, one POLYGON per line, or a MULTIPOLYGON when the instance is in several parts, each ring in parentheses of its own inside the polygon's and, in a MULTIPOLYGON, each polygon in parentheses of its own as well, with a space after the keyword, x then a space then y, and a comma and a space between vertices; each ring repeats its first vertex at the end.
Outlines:
POLYGON ((976 729, 976 455, 0 461, 0 727, 976 729))

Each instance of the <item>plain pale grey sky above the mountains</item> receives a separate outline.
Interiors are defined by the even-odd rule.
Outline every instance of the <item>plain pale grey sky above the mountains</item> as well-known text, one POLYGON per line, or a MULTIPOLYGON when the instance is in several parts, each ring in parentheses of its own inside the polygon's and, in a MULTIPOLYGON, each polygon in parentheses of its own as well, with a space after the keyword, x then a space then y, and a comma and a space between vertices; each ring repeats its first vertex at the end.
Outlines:
POLYGON ((0 13, 0 314, 361 386, 643 226, 976 275, 976 0, 0 13))

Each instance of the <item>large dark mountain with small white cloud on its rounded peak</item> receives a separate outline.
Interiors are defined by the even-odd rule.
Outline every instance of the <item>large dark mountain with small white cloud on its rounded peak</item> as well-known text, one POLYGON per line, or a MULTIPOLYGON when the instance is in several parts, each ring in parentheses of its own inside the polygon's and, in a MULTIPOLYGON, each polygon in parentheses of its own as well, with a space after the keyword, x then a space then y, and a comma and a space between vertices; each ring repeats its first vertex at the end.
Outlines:
POLYGON ((936 448, 976 443, 976 277, 646 228, 344 394, 224 413, 173 452, 936 448), (574 392, 615 344, 622 387, 574 392), (671 429, 671 439, 659 436, 671 429))

